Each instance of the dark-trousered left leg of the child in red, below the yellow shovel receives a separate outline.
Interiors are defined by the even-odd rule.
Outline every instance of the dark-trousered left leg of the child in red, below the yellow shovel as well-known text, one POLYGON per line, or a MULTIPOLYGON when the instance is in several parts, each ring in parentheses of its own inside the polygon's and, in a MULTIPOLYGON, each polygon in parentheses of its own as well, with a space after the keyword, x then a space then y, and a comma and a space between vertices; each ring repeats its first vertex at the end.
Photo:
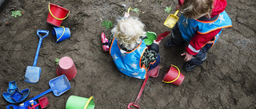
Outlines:
POLYGON ((170 35, 171 38, 166 42, 167 47, 170 47, 173 45, 181 45, 182 43, 185 42, 178 28, 179 28, 178 23, 176 23, 176 25, 174 25, 174 28, 171 30, 171 35, 170 35))

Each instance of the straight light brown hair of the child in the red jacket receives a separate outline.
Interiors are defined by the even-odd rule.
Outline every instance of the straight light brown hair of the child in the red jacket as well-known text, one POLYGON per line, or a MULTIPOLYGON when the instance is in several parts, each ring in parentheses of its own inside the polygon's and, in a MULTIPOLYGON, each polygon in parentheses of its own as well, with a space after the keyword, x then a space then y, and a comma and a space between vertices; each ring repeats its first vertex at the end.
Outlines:
POLYGON ((206 15, 210 18, 214 0, 185 0, 179 9, 184 17, 198 19, 206 15))

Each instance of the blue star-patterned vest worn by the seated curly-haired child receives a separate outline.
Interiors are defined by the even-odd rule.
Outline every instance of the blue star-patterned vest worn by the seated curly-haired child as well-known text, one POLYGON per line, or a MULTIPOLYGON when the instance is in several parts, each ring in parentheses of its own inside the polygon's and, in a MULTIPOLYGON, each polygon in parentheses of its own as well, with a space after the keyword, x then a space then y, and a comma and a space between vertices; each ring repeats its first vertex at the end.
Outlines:
POLYGON ((147 69, 144 66, 141 66, 141 58, 145 49, 147 49, 147 47, 142 40, 141 44, 133 51, 121 53, 118 40, 114 38, 110 45, 110 55, 120 72, 126 74, 126 76, 145 79, 147 69))

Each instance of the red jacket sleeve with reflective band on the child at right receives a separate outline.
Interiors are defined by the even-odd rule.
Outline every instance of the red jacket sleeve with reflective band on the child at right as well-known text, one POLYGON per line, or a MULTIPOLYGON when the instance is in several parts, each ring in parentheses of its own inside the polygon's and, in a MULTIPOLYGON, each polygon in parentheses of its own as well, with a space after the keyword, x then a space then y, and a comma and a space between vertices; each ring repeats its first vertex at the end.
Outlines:
POLYGON ((190 44, 186 46, 186 53, 189 53, 191 55, 198 54, 200 49, 202 49, 202 47, 206 45, 208 41, 214 39, 214 37, 221 30, 222 29, 216 29, 206 34, 195 33, 194 37, 192 37, 192 39, 190 40, 190 44))

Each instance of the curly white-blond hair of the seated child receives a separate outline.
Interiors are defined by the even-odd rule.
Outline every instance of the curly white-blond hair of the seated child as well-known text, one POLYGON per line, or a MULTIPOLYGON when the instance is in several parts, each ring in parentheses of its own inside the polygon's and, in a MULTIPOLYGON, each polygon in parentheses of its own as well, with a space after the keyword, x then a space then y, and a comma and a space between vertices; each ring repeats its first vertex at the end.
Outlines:
POLYGON ((111 32, 117 37, 118 43, 128 50, 132 50, 142 41, 144 24, 138 18, 121 18, 111 32))

